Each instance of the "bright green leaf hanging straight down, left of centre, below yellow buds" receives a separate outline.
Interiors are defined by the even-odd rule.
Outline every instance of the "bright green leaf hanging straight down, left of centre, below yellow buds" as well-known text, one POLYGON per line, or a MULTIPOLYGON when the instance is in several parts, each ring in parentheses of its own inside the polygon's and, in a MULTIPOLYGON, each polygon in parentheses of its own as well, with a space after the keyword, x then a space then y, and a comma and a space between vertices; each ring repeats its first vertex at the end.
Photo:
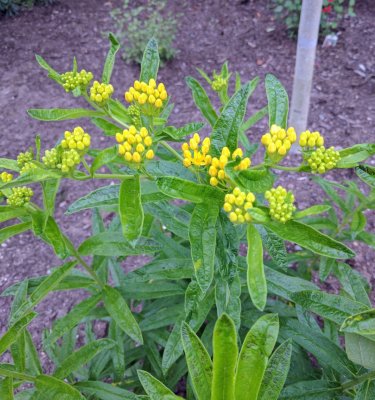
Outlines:
POLYGON ((142 234, 144 220, 139 175, 121 183, 119 214, 124 238, 137 240, 142 234))

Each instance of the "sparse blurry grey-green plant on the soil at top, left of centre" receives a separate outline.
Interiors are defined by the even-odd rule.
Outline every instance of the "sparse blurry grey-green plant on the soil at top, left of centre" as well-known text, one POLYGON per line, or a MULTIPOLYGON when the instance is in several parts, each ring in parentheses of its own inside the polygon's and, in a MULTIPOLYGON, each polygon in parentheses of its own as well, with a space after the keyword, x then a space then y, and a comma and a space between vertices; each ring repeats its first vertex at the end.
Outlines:
POLYGON ((124 60, 141 64, 143 51, 152 37, 159 44, 162 63, 172 60, 178 52, 174 47, 178 15, 168 11, 167 0, 151 0, 142 5, 133 3, 124 0, 121 7, 111 11, 116 36, 124 48, 124 60))

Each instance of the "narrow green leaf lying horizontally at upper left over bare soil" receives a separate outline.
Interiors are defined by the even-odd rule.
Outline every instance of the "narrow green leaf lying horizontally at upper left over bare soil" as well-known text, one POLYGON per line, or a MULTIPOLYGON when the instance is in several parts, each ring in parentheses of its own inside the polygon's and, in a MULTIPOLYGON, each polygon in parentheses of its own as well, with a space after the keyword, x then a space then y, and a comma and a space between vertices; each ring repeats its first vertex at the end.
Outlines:
POLYGON ((65 121, 68 119, 102 117, 105 115, 101 111, 86 108, 31 108, 27 113, 30 117, 40 121, 65 121))

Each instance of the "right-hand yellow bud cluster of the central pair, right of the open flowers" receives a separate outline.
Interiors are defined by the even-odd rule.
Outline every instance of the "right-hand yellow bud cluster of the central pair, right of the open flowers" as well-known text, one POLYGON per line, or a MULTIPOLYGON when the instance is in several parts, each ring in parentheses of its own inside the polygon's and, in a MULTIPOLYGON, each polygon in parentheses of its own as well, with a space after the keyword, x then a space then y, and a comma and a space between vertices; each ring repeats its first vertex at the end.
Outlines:
MULTIPOLYGON (((238 165, 234 167, 236 171, 243 171, 250 167, 251 160, 249 157, 243 158, 243 151, 240 147, 238 147, 232 153, 232 160, 235 160, 237 157, 240 157, 241 161, 238 165)), ((212 158, 211 166, 208 170, 208 174, 211 176, 210 184, 212 186, 217 186, 219 183, 225 184, 227 176, 225 174, 224 168, 230 161, 230 158, 231 153, 228 147, 223 147, 219 158, 212 158)))

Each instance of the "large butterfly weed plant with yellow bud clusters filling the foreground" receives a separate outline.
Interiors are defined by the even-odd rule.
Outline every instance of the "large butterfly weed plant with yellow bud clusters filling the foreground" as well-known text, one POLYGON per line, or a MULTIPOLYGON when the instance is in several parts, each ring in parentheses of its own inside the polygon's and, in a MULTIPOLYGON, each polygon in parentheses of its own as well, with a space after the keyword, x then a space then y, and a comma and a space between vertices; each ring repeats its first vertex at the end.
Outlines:
POLYGON ((0 354, 11 360, 0 364, 0 398, 373 399, 375 312, 368 283, 347 261, 353 240, 374 245, 365 230, 374 168, 364 162, 375 146, 337 150, 313 129, 287 126, 288 96, 273 75, 264 82, 267 105, 245 118, 260 80, 236 74, 231 92, 226 63, 212 78, 199 71, 221 108, 187 77, 204 122, 169 125, 174 96, 157 76, 156 40, 129 88, 111 82, 118 50, 110 35, 101 77, 79 70, 76 59, 59 73, 37 56, 49 78, 87 107, 29 110, 38 120, 63 121, 61 140, 44 148, 37 137, 16 160, 0 159, 0 222, 8 221, 0 241, 31 230, 61 259, 49 275, 2 293, 13 303, 0 338, 0 354), (267 132, 249 141, 248 130, 266 115, 267 132), (93 148, 92 125, 112 146, 93 148), (292 146, 300 154, 285 166, 292 146), (258 148, 264 156, 256 164, 258 148), (353 169, 361 184, 324 179, 339 168, 353 169), (280 185, 280 174, 312 177, 329 199, 299 209, 298 187, 280 185), (66 209, 92 212, 92 235, 78 247, 54 215, 62 180, 103 182, 66 209), (286 242, 297 246, 287 251, 286 242), (124 271, 133 255, 147 261, 124 271), (318 269, 322 280, 338 279, 339 294, 311 281, 318 269), (86 298, 44 331, 54 365, 47 373, 29 325, 47 295, 76 289, 86 298))

